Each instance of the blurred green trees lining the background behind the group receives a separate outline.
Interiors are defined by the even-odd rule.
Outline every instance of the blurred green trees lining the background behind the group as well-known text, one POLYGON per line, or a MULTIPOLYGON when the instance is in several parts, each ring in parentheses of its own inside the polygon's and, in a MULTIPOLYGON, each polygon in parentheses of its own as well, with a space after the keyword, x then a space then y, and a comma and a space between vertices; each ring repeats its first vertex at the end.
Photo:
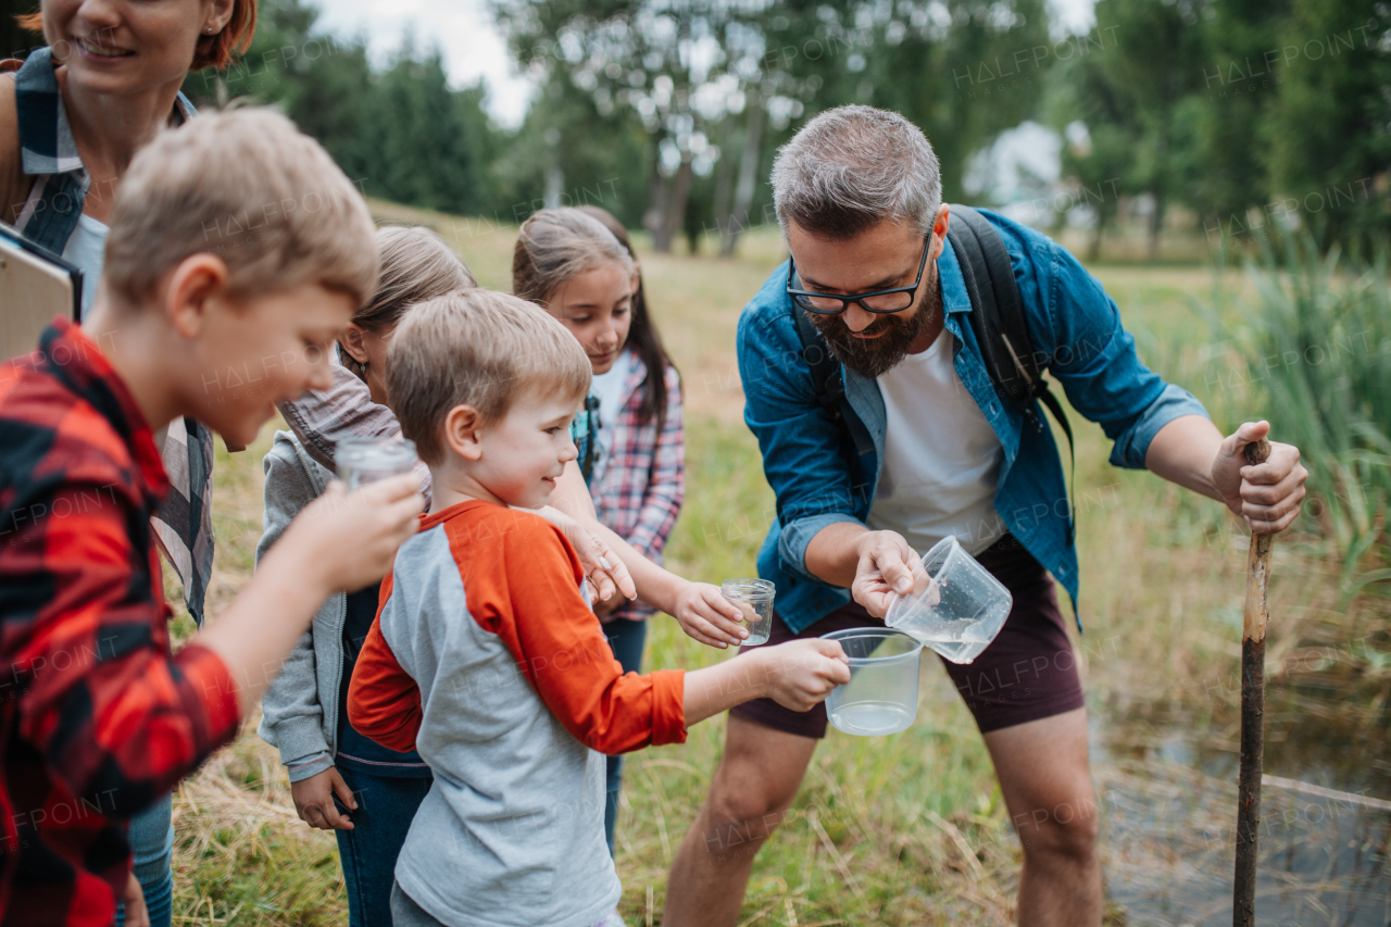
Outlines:
MULTIPOLYGON (((971 159, 1025 120, 1064 139, 1061 188, 1095 242, 1145 203, 1150 251, 1184 207, 1210 239, 1391 230, 1391 4, 1099 0, 1082 35, 1046 0, 494 0, 538 92, 516 129, 438 49, 373 67, 306 0, 262 0, 249 54, 189 75, 196 102, 275 103, 385 199, 516 223, 594 202, 658 249, 732 253, 772 221, 776 148, 842 103, 926 132, 953 202, 971 159)), ((3 38, 22 49, 8 22, 3 38)), ((428 35, 428 22, 419 24, 428 35)), ((1056 187, 1054 187, 1056 189, 1056 187)), ((1060 221, 1061 214, 1057 216, 1060 221)))

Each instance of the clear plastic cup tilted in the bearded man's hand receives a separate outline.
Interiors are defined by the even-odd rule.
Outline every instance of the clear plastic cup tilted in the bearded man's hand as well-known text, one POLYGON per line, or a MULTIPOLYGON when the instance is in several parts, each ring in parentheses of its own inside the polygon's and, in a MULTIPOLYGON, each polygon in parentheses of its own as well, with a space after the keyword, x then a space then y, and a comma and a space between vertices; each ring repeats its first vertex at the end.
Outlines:
POLYGON ((971 663, 990 646, 1014 599, 956 537, 938 541, 912 575, 912 592, 889 604, 883 621, 951 663, 971 663))

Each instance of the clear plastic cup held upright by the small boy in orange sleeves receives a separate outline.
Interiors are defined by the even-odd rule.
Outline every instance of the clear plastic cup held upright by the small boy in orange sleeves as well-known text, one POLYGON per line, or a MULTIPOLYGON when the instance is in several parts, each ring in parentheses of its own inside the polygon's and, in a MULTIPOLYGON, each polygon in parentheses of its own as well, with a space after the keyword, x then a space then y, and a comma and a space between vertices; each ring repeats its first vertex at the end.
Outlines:
POLYGON ((850 682, 826 696, 832 727, 869 738, 904 731, 918 717, 922 644, 887 628, 847 628, 822 635, 850 657, 850 682))

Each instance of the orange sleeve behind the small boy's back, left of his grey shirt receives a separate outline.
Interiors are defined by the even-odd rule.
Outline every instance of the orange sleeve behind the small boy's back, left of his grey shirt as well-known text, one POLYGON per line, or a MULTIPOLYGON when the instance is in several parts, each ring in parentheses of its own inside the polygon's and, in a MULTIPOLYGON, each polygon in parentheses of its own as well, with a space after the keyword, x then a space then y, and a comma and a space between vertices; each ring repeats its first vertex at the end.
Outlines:
MULTIPOLYGON (((391 596, 391 575, 381 583, 381 601, 391 596)), ((420 686, 396 663, 391 646, 381 635, 381 614, 357 653, 357 664, 348 686, 348 722, 353 729, 384 747, 416 749, 420 732, 420 686)))

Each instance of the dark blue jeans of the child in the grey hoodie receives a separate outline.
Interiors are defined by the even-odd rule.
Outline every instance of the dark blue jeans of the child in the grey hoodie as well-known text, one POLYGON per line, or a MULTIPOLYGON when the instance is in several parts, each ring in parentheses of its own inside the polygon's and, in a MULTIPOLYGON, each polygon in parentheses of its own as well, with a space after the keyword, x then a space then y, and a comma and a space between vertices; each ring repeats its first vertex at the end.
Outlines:
POLYGON ((352 810, 334 796, 338 810, 346 811, 353 823, 351 831, 334 831, 348 887, 348 926, 391 927, 396 856, 434 779, 373 775, 344 766, 338 772, 357 799, 357 809, 352 810))

